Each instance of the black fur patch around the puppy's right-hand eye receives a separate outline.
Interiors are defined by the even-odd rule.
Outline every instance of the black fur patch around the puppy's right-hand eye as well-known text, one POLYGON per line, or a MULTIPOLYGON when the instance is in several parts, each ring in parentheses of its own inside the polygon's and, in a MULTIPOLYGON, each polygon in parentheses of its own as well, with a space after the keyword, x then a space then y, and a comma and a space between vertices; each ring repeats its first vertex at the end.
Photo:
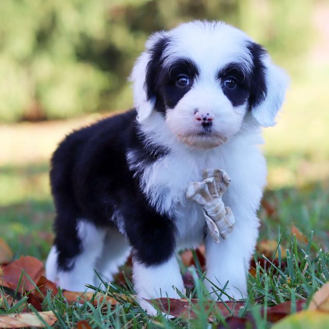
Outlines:
POLYGON ((224 95, 230 100, 233 106, 244 104, 250 93, 250 77, 239 63, 230 63, 223 67, 217 74, 224 95), (225 81, 234 80, 233 88, 228 87, 225 81))

